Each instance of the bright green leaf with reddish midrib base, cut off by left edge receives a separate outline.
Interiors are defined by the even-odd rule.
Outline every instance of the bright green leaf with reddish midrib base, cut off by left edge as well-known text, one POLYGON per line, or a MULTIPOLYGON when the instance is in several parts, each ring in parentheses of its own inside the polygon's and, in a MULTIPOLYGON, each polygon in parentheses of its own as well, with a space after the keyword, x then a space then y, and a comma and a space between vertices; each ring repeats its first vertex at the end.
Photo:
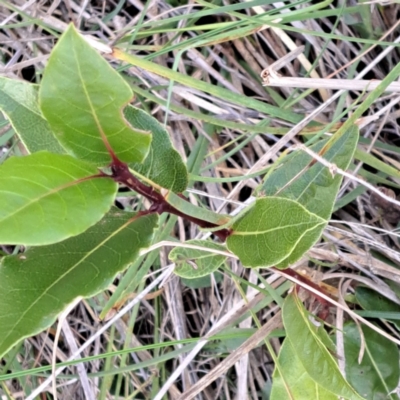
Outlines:
POLYGON ((56 243, 95 224, 117 192, 112 179, 98 174, 69 155, 9 158, 0 166, 0 243, 56 243))

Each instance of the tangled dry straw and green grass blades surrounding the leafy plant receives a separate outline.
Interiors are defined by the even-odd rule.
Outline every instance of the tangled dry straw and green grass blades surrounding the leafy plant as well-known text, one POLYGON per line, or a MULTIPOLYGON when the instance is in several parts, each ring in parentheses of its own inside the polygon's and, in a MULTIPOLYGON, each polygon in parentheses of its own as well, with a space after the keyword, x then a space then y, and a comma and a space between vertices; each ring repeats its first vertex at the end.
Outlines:
MULTIPOLYGON (((285 29, 277 25, 276 15, 264 25, 250 26, 247 31, 231 29, 227 34, 218 29, 237 21, 239 11, 185 19, 188 13, 211 8, 202 2, 180 6, 171 3, 174 5, 138 0, 2 1, 0 71, 8 77, 39 83, 56 37, 71 21, 81 32, 105 44, 143 57, 157 52, 153 61, 171 69, 176 67, 182 76, 210 83, 215 92, 199 90, 183 81, 169 87, 167 77, 129 66, 124 70, 125 76, 142 90, 137 93, 136 104, 159 121, 167 120, 171 139, 184 160, 189 160, 193 175, 231 178, 260 170, 284 150, 303 143, 303 135, 312 133, 309 127, 304 129, 308 121, 323 125, 332 122, 332 131, 337 129, 342 118, 356 109, 355 101, 360 103, 367 95, 367 91, 363 92, 365 85, 356 86, 355 81, 380 81, 399 62, 398 47, 380 44, 400 40, 400 6, 395 2, 371 5, 371 26, 359 14, 352 14, 351 18, 359 16, 359 21, 354 21, 349 15, 337 18, 315 11, 306 15, 311 18, 293 17, 294 22, 286 23, 285 29), (175 22, 162 25, 164 19, 171 17, 176 17, 175 22), (156 25, 156 21, 160 24, 156 25), (213 25, 199 30, 204 24, 213 25), (345 38, 339 40, 340 35, 345 38), (193 46, 181 53, 190 41, 193 46), (290 52, 303 45, 304 51, 290 60, 290 52), (272 69, 271 86, 263 87, 260 74, 266 68, 271 72, 271 65, 277 61, 280 64, 272 69), (278 68, 281 77, 274 74, 278 68), (325 79, 316 81, 319 78, 325 79), (345 80, 347 85, 340 86, 334 81, 336 78, 345 80), (231 92, 232 98, 227 98, 221 88, 231 92), (336 89, 347 91, 339 93, 336 89), (250 99, 260 102, 252 103, 250 99), (269 109, 268 105, 276 108, 269 109), (274 114, 276 110, 282 114, 274 114), (287 135, 282 136, 284 133, 287 135), (191 157, 193 151, 198 159, 191 157)), ((252 6, 240 12, 254 23, 255 16, 280 6, 252 6)), ((309 4, 302 7, 306 6, 309 4)), ((364 12, 368 14, 368 10, 364 12)), ((283 10, 282 15, 285 13, 283 10)), ((117 67, 115 60, 110 61, 117 67)), ((357 283, 400 304, 400 242, 399 232, 394 230, 399 224, 400 203, 382 198, 379 193, 371 197, 371 191, 362 185, 367 181, 372 187, 391 188, 393 192, 386 190, 384 194, 393 199, 400 193, 398 92, 399 83, 395 82, 358 121, 364 138, 359 144, 360 153, 372 155, 382 163, 371 164, 372 158, 357 158, 353 171, 344 179, 340 208, 324 233, 324 241, 294 266, 314 281, 325 283, 342 308, 343 299, 354 293, 357 283)), ((8 130, 5 125, 0 138, 8 130)), ((10 143, 8 140, 4 144, 6 151, 10 143)), ((21 149, 14 146, 12 151, 21 149)), ((191 199, 223 213, 235 213, 251 201, 251 191, 259 183, 257 177, 224 184, 198 181, 191 190, 191 199)), ((127 206, 131 203, 123 197, 121 202, 127 206)), ((181 220, 166 229, 165 240, 169 239, 170 230, 182 241, 204 236, 197 227, 181 220)), ((291 286, 287 277, 269 270, 244 269, 230 258, 222 281, 212 281, 205 288, 190 288, 172 274, 169 250, 168 246, 154 250, 155 255, 144 261, 139 272, 129 269, 125 278, 115 282, 116 286, 77 304, 60 320, 62 335, 58 342, 54 327, 11 351, 4 359, 3 374, 28 372, 2 381, 3 398, 7 394, 15 399, 39 398, 31 392, 44 378, 35 368, 50 365, 53 356, 57 363, 66 361, 83 345, 86 348, 79 350, 80 357, 95 357, 63 371, 66 375, 56 381, 59 399, 111 399, 117 398, 117 390, 119 398, 125 399, 161 399, 165 391, 168 398, 182 400, 192 398, 194 393, 199 393, 198 399, 267 398, 274 369, 270 350, 279 352, 277 337, 282 336, 279 301, 291 286), (161 271, 162 275, 153 275, 154 271, 161 271), (270 287, 264 288, 263 278, 270 287), (156 291, 162 279, 162 289, 156 291), (246 281, 254 287, 245 285, 246 281), (132 293, 141 293, 141 297, 132 301, 132 293), (112 318, 125 302, 130 309, 114 317, 110 326, 99 321, 106 305, 111 307, 108 317, 112 318), (255 335, 255 320, 249 310, 262 326, 255 335), (232 326, 238 329, 226 330, 232 326), (221 332, 224 336, 219 340, 208 340, 221 332), (270 340, 271 348, 257 347, 270 333, 275 336, 270 340), (187 341, 190 338, 194 340, 187 341), (171 353, 173 350, 175 353, 171 353), (105 358, 107 354, 110 357, 105 358)), ((328 321, 340 328, 348 318, 340 308, 332 307, 328 321)), ((400 340, 391 325, 381 326, 400 340)), ((340 347, 338 352, 340 359, 340 347)), ((42 390, 51 393, 54 389, 47 385, 42 390)), ((51 394, 48 396, 51 398, 51 394)))

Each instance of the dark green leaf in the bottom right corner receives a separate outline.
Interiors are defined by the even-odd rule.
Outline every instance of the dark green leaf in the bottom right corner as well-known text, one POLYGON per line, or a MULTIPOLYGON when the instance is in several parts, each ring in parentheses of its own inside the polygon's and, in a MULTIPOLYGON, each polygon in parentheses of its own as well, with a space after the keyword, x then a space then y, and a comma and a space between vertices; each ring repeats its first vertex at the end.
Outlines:
POLYGON ((367 326, 362 327, 365 351, 358 364, 361 339, 357 326, 344 326, 346 377, 365 399, 398 399, 389 393, 399 382, 399 351, 397 346, 367 326))

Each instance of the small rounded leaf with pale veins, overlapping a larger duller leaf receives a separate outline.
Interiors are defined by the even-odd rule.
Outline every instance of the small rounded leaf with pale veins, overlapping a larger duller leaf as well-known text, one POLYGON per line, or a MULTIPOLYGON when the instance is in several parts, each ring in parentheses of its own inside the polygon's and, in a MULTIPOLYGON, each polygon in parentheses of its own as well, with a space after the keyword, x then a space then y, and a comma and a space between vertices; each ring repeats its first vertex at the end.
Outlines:
POLYGON ((299 259, 325 225, 293 200, 264 197, 234 222, 227 246, 246 267, 283 267, 299 259))

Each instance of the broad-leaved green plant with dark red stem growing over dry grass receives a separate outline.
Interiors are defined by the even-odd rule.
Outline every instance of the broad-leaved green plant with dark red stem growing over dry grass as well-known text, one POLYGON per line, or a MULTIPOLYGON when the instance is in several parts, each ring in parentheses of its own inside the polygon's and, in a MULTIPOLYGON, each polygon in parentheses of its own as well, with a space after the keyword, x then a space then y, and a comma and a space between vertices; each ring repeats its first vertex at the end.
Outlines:
MULTIPOLYGON (((213 233, 214 240, 191 241, 203 250, 171 252, 177 274, 186 278, 218 269, 225 256, 214 249, 229 251, 245 267, 291 271, 331 216, 341 176, 302 151, 270 168, 255 201, 235 217, 189 203, 186 166, 168 132, 129 104, 128 83, 73 26, 55 46, 39 87, 5 78, 0 83, 2 110, 29 153, 0 166, 0 243, 22 246, 1 261, 0 355, 49 327, 76 298, 107 288, 155 244, 161 214, 213 233), (140 211, 114 206, 120 186, 145 200, 140 211)), ((311 150, 346 169, 357 140, 353 127, 311 150)), ((340 374, 330 339, 308 321, 295 293, 283 316, 287 336, 298 335, 293 340, 304 344, 285 341, 282 348, 284 357, 297 360, 296 371, 321 391, 359 398, 340 374), (310 349, 319 357, 311 366, 301 361, 310 349), (321 379, 321 371, 330 379, 321 379)), ((283 381, 277 373, 276 393, 283 381)))

